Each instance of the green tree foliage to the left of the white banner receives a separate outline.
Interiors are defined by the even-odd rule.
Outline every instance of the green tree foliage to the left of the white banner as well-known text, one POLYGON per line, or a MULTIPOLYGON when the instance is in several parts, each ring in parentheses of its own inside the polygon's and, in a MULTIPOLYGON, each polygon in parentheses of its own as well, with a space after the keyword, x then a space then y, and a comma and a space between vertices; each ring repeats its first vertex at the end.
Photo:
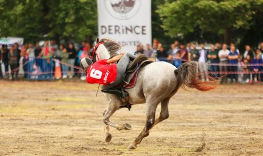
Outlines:
POLYGON ((0 0, 0 36, 90 39, 97 34, 96 13, 95 0, 0 0))

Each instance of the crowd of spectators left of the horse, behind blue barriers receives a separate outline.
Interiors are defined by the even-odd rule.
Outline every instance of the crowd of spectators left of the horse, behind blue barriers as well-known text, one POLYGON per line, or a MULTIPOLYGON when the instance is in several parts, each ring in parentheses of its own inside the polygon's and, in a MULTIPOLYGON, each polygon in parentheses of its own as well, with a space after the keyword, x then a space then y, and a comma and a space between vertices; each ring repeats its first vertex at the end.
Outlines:
POLYGON ((79 77, 82 80, 86 79, 85 73, 79 68, 79 61, 84 57, 89 57, 91 46, 89 43, 82 41, 81 45, 75 48, 74 43, 69 43, 67 46, 56 44, 55 40, 47 40, 44 45, 40 47, 39 43, 35 46, 30 44, 23 44, 19 48, 19 44, 15 43, 9 47, 5 44, 0 49, 0 67, 4 64, 4 71, 0 68, 0 79, 9 78, 10 80, 18 79, 19 65, 22 65, 24 78, 37 78, 42 73, 45 78, 73 78, 79 77), (28 74, 28 61, 34 62, 32 75, 28 74), (9 66, 10 71, 9 72, 9 66), (54 75, 53 75, 54 73, 54 75), (4 75, 4 76, 3 76, 4 75))

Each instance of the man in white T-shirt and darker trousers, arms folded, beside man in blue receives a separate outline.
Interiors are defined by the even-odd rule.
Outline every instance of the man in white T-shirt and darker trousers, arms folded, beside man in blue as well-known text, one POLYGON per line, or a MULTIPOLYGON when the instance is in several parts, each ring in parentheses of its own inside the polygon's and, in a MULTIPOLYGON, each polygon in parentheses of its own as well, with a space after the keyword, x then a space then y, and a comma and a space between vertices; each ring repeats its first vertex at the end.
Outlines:
POLYGON ((228 63, 228 55, 230 51, 227 49, 227 45, 224 43, 222 45, 222 49, 218 52, 218 57, 220 60, 220 66, 219 66, 219 71, 224 72, 221 73, 220 77, 221 81, 220 83, 227 83, 227 77, 225 76, 225 72, 227 72, 227 63, 228 63))

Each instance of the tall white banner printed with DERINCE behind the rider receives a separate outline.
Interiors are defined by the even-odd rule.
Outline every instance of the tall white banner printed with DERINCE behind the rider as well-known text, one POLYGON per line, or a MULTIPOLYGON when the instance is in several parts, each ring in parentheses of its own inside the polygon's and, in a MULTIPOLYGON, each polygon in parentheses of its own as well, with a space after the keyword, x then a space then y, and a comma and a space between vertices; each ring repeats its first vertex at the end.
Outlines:
POLYGON ((98 36, 118 42, 133 54, 138 44, 151 45, 150 0, 97 0, 98 36))

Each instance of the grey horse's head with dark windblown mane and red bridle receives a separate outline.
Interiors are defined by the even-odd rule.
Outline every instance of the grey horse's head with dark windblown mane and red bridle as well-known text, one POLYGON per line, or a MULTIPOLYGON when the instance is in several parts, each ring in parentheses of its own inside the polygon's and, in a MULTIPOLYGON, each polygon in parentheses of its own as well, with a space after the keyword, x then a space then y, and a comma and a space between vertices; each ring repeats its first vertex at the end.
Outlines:
POLYGON ((101 59, 110 59, 117 55, 121 46, 111 39, 96 39, 94 47, 90 51, 92 61, 96 62, 101 59))

